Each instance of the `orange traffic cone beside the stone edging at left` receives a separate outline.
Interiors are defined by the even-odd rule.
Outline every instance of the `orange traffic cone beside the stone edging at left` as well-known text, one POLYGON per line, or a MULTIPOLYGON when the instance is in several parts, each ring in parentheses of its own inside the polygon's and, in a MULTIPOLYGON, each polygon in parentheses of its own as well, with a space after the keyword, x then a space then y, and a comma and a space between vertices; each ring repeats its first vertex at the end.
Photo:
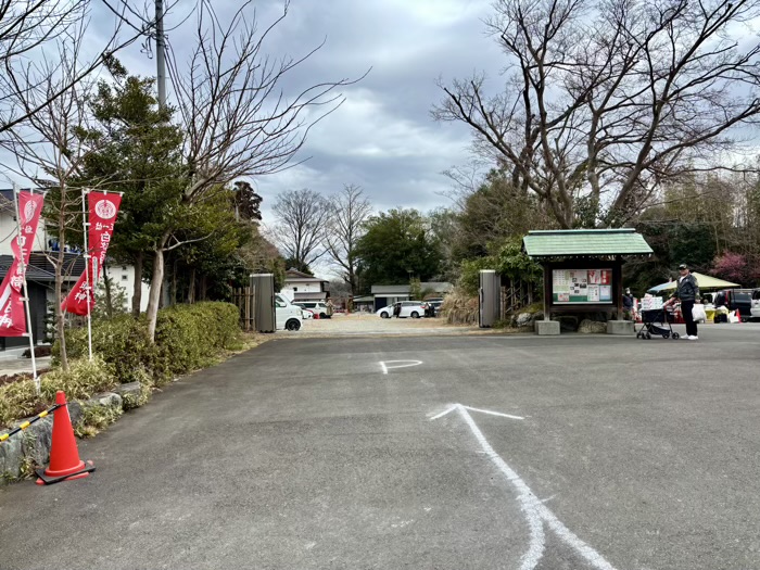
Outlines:
POLYGON ((50 465, 42 471, 37 470, 38 485, 50 485, 68 479, 81 479, 94 471, 92 461, 79 459, 72 418, 66 406, 66 395, 60 390, 55 393, 55 404, 60 407, 53 411, 53 438, 50 447, 50 465))

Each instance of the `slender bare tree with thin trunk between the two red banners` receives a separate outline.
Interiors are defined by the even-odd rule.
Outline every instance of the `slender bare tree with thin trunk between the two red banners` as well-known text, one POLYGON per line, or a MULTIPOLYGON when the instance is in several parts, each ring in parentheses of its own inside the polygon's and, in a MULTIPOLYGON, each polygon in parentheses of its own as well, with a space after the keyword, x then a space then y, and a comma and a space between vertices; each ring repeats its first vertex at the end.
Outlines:
POLYGON ((80 22, 69 30, 67 41, 58 42, 58 56, 39 63, 37 71, 41 79, 11 93, 21 109, 35 111, 28 114, 23 128, 9 129, 0 139, 0 149, 15 161, 3 166, 48 190, 46 219, 54 226, 60 244, 59 251, 49 254, 48 258, 55 268, 54 318, 63 369, 68 368, 65 315, 61 311, 64 252, 69 235, 81 235, 81 228, 76 228, 75 224, 81 216, 81 190, 73 188, 72 183, 79 175, 87 153, 98 143, 88 138, 90 113, 87 99, 92 83, 73 80, 80 76, 79 50, 86 29, 86 24, 80 22))

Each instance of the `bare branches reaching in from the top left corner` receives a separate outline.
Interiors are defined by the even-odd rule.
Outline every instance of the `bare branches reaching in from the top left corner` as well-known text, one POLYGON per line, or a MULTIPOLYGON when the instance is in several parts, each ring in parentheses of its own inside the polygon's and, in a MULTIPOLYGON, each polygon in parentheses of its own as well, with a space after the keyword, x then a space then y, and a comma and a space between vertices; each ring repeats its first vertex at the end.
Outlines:
POLYGON ((0 135, 18 127, 96 69, 111 63, 118 50, 152 34, 154 22, 129 0, 100 0, 100 3, 115 14, 114 29, 94 54, 85 59, 78 50, 77 73, 69 75, 65 72, 71 69, 54 68, 47 53, 55 42, 75 41, 89 21, 92 2, 0 0, 0 135), (128 28, 128 33, 119 39, 122 27, 128 28), (47 90, 47 99, 40 100, 39 88, 50 87, 51 72, 61 72, 58 78, 65 76, 66 81, 56 81, 55 89, 47 90))

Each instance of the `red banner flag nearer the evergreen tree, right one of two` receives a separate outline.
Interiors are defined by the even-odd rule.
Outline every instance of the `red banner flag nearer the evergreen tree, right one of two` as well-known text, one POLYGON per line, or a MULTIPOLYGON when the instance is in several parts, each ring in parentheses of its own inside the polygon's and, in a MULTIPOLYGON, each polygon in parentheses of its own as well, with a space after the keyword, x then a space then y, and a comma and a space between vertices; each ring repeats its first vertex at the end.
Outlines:
POLYGON ((87 315, 88 306, 94 306, 94 286, 98 284, 98 279, 100 278, 100 269, 103 267, 105 252, 109 249, 109 243, 111 243, 111 236, 114 231, 116 215, 121 204, 121 194, 106 194, 103 192, 89 192, 87 194, 90 220, 90 228, 87 232, 90 254, 89 275, 88 271, 83 271, 74 289, 68 292, 68 296, 61 304, 61 311, 67 311, 75 315, 87 315), (89 277, 89 282, 87 277, 89 277))

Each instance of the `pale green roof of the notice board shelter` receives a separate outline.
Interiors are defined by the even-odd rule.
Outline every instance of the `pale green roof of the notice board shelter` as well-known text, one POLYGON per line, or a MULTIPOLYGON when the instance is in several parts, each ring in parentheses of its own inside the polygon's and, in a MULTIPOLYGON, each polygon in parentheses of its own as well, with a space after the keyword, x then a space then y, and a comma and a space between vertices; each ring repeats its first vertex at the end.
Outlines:
POLYGON ((633 228, 530 231, 522 244, 530 257, 653 253, 644 237, 633 228))

